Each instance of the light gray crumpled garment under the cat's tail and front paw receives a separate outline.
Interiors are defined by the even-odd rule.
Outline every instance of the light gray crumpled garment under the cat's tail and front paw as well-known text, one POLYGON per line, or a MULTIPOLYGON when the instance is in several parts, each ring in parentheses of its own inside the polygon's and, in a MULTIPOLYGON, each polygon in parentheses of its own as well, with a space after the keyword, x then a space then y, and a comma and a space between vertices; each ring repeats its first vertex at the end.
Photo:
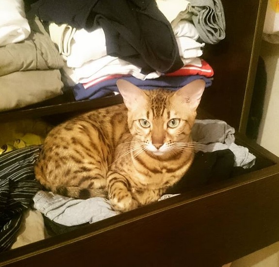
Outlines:
POLYGON ((93 223, 119 214, 113 210, 109 200, 99 197, 77 200, 40 190, 33 201, 35 209, 66 226, 93 223))

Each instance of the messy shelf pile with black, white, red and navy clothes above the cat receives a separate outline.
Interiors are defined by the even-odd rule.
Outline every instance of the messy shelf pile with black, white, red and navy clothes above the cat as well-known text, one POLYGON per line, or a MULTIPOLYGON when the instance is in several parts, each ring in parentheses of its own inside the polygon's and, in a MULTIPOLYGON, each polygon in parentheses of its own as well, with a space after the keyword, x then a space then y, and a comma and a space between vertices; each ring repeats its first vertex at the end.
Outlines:
POLYGON ((220 0, 38 0, 32 10, 48 22, 76 100, 117 93, 119 78, 144 89, 176 90, 194 79, 209 86, 202 49, 225 38, 220 0))

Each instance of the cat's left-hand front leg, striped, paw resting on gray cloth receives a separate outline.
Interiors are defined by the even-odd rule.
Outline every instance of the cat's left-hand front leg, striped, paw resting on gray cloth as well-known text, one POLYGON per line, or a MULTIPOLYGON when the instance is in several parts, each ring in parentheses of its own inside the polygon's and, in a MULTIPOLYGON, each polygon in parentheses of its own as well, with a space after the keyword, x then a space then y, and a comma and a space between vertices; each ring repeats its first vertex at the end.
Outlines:
POLYGON ((107 174, 107 188, 109 199, 115 210, 125 212, 133 210, 139 206, 131 191, 127 179, 115 171, 109 171, 107 174))

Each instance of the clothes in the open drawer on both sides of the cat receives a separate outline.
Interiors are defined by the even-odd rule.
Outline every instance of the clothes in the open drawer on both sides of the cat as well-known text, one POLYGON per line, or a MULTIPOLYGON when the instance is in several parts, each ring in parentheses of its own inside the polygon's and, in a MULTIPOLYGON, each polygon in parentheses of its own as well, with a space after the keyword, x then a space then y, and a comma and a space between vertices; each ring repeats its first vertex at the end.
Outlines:
MULTIPOLYGON (((194 162, 160 200, 252 171, 256 157, 235 144, 234 133, 224 121, 197 119, 194 162)), ((66 233, 118 214, 104 198, 78 200, 45 191, 33 169, 41 149, 32 145, 0 155, 0 252, 45 238, 44 229, 47 236, 66 233)))

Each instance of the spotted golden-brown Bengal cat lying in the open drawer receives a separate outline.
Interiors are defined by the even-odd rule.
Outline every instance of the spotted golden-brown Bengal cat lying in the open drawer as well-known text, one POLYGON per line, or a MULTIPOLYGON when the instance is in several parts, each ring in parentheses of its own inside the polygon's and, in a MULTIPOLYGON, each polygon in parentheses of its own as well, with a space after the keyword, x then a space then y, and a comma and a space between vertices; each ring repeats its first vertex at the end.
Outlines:
POLYGON ((35 165, 48 190, 87 199, 108 197, 115 210, 158 200, 190 167, 191 129, 205 88, 142 90, 125 80, 124 104, 93 110, 53 128, 35 165))

